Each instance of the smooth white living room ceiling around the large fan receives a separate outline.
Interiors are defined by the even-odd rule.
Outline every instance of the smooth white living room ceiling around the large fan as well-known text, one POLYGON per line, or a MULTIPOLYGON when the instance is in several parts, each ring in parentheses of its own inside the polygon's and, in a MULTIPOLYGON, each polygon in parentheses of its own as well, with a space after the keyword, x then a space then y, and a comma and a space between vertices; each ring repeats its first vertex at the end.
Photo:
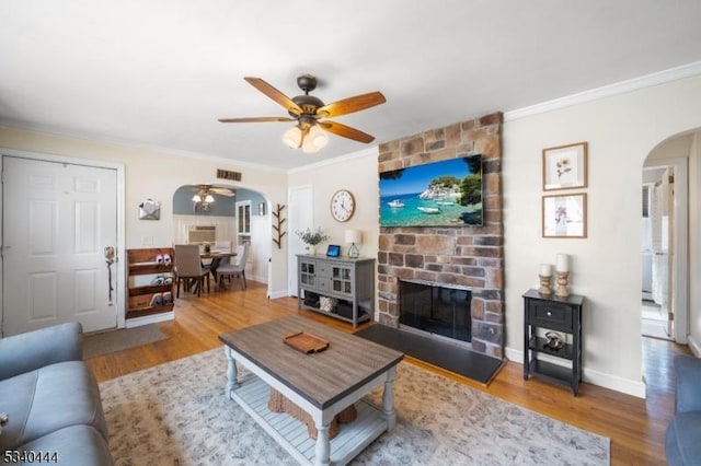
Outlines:
POLYGON ((287 149, 286 116, 243 81, 325 103, 390 141, 701 61, 701 1, 1 0, 0 125, 288 170, 366 148, 287 149))

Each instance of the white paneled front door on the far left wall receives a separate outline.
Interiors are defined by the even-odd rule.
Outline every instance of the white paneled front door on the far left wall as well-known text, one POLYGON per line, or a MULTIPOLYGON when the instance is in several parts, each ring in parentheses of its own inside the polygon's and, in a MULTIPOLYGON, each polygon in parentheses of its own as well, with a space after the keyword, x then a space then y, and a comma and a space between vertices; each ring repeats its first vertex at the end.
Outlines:
POLYGON ((116 170, 2 158, 3 335, 77 321, 117 326, 116 170))

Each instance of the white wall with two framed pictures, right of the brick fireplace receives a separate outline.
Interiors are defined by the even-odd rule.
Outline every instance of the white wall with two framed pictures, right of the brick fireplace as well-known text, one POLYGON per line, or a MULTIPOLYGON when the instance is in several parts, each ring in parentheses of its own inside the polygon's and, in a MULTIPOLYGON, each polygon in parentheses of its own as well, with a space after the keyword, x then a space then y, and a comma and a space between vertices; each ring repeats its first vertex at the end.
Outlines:
POLYGON ((504 125, 507 356, 522 357, 521 294, 538 265, 572 255, 584 308, 584 377, 644 396, 640 324, 642 166, 667 138, 701 127, 701 77, 677 80, 504 125), (542 238, 541 151, 588 141, 588 237, 542 238))

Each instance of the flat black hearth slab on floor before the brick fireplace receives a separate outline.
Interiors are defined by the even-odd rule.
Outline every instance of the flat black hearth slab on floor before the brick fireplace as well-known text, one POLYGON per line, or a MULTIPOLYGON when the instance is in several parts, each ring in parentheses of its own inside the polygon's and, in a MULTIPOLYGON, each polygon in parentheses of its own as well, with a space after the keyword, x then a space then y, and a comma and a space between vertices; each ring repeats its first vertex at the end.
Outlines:
POLYGON ((381 324, 371 325, 354 335, 485 385, 504 363, 498 358, 381 324))

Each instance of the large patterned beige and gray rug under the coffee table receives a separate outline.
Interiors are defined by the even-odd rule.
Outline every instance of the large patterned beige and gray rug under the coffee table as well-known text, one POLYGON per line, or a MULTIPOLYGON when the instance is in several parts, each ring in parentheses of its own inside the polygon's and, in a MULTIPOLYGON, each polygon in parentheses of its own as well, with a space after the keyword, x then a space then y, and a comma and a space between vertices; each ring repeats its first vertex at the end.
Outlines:
MULTIPOLYGON (((222 349, 103 382, 115 464, 295 465, 225 397, 222 349)), ((252 376, 241 366, 241 377, 252 376)), ((381 404, 381 387, 369 395, 381 404)), ((353 465, 608 465, 610 441, 402 362, 397 427, 353 465)))

